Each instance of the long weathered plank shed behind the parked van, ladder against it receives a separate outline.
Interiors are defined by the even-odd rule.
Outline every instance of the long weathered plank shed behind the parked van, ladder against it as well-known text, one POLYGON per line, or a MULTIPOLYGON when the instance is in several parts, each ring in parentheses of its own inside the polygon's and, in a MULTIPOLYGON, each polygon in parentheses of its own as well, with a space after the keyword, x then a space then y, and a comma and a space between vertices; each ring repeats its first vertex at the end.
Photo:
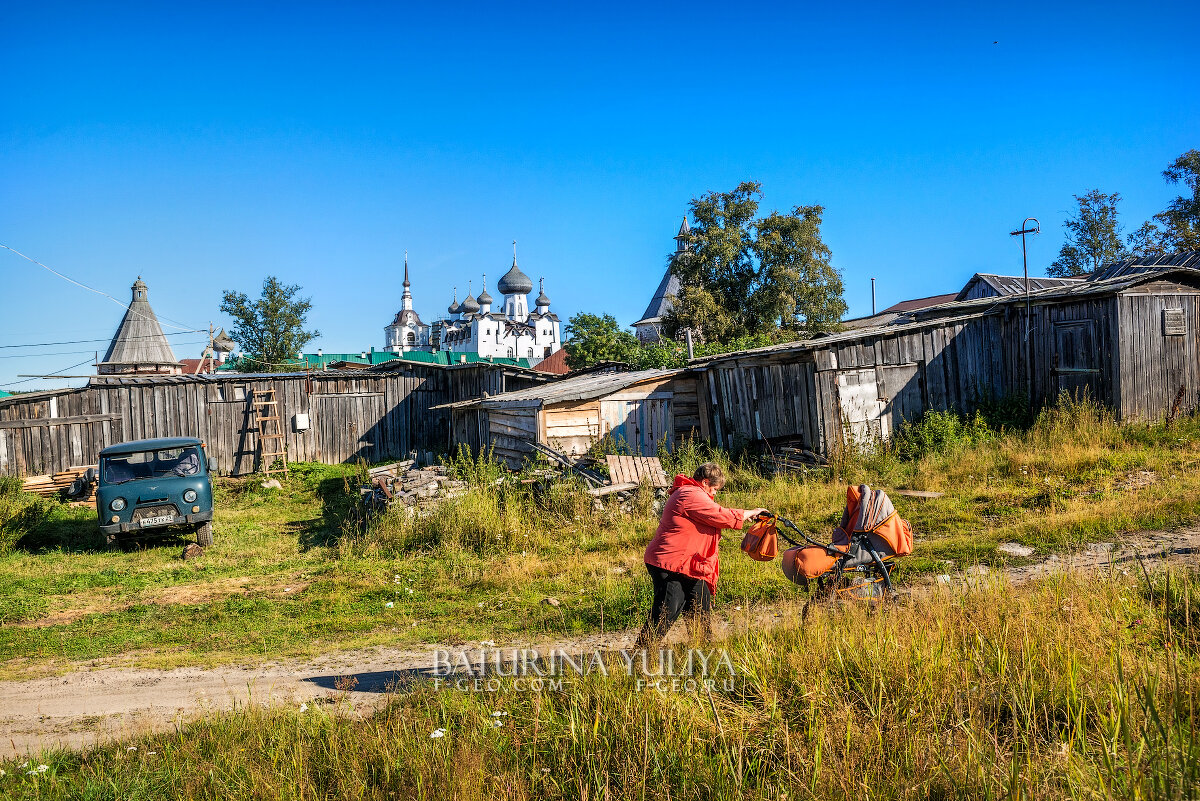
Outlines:
POLYGON ((100 377, 85 387, 0 399, 0 474, 94 464, 101 448, 197 436, 222 474, 258 469, 254 393, 275 391, 290 460, 383 462, 449 447, 433 406, 535 386, 550 377, 499 365, 407 363, 386 372, 100 377))

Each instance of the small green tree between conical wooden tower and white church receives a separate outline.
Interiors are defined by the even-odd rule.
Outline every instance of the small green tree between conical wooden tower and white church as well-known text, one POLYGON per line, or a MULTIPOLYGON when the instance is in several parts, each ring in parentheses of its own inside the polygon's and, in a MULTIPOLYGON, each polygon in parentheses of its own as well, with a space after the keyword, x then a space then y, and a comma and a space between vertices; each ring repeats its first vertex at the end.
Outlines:
POLYGON ((312 299, 296 297, 298 284, 281 284, 275 276, 263 281, 263 294, 250 300, 242 293, 224 290, 221 311, 234 320, 229 337, 246 355, 246 372, 270 373, 286 369, 300 350, 320 336, 305 331, 312 299))

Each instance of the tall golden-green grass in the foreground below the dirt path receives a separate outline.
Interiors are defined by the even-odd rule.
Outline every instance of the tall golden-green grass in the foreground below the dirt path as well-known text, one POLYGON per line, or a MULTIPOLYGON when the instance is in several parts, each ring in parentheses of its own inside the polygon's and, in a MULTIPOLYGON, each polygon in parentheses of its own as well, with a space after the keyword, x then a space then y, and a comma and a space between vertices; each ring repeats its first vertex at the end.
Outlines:
POLYGON ((638 688, 619 670, 541 691, 420 682, 362 717, 331 692, 0 761, 0 794, 1189 799, 1198 601, 1200 576, 1168 572, 996 583, 884 613, 824 607, 804 624, 791 608, 722 644, 734 679, 712 694, 638 688))

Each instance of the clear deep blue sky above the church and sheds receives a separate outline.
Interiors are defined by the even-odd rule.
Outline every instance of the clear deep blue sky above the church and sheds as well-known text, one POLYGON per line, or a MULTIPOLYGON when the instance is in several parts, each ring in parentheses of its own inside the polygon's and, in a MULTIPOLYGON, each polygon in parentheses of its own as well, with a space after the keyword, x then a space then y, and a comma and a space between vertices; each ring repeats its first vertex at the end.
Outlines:
MULTIPOLYGON (((1121 192, 1132 230, 1200 147, 1195 2, 805 5, 4 4, 0 242, 121 300, 142 275, 187 327, 277 275, 311 348, 354 351, 406 249, 426 319, 516 239, 564 319, 631 323, 688 201, 755 179, 826 206, 864 314, 872 276, 882 308, 1019 272, 1026 216, 1043 272, 1073 194, 1121 192)), ((6 251, 0 276, 0 345, 120 320, 6 251)), ((2 348, 0 389, 104 347, 2 348)))

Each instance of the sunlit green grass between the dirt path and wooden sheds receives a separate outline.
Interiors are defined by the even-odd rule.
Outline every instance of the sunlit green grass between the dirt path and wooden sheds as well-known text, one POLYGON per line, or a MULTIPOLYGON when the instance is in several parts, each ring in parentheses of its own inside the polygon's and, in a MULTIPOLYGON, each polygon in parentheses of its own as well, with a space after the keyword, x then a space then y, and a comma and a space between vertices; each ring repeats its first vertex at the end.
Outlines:
MULTIPOLYGON (((904 448, 845 453, 808 477, 768 480, 696 444, 667 468, 724 460, 722 502, 766 506, 818 536, 836 523, 846 482, 943 492, 893 496, 917 532, 901 574, 910 580, 1019 561, 996 552, 1001 542, 1045 555, 1200 519, 1200 420, 1118 426, 1068 403, 1027 429, 946 420, 928 428, 904 448)), ((0 679, 97 662, 228 664, 641 624, 650 589, 642 550, 656 525, 649 493, 629 511, 594 511, 571 482, 496 488, 492 465, 455 469, 478 482, 466 496, 427 516, 397 511, 366 532, 348 519, 360 468, 296 464, 282 490, 221 480, 216 544, 187 562, 179 542, 107 550, 91 512, 52 504, 0 554, 0 679)), ((7 498, 28 504, 20 493, 7 498)), ((778 566, 743 558, 737 543, 722 546, 719 609, 798 597, 778 566)))

